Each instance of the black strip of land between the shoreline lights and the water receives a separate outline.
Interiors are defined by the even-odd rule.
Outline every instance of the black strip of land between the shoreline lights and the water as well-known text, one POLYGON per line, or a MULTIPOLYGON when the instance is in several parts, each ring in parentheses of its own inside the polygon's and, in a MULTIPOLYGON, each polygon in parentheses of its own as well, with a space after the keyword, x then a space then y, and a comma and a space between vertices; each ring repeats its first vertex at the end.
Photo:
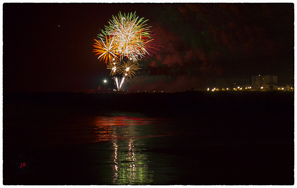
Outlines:
MULTIPOLYGON (((294 92, 177 92, 177 93, 72 93, 9 92, 3 93, 3 106, 19 108, 56 106, 52 113, 108 113, 127 111, 160 117, 189 117, 199 114, 261 116, 285 115, 293 118, 294 92), (58 110, 58 111, 56 111, 58 110), (234 114, 235 113, 235 114, 234 114)), ((20 110, 20 109, 19 109, 20 110)), ((4 114, 5 116, 8 113, 4 114)), ((195 117, 196 118, 196 117, 195 117)), ((273 117, 272 117, 273 118, 273 117)))

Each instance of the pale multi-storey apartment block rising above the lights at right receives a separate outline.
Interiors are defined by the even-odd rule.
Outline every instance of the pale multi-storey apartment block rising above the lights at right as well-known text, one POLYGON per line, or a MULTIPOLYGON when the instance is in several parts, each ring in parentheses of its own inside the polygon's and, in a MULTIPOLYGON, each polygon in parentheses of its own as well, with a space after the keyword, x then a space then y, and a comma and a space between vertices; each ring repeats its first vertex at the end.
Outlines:
POLYGON ((265 88, 277 85, 277 76, 258 75, 252 76, 252 88, 265 88))

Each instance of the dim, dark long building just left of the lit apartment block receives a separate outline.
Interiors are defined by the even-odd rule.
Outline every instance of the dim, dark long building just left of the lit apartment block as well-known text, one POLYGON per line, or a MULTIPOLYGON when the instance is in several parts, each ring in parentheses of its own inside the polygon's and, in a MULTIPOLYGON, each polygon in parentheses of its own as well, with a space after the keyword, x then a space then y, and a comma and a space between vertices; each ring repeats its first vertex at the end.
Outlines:
POLYGON ((216 80, 216 88, 219 89, 233 89, 242 87, 243 85, 249 85, 249 79, 247 78, 219 78, 216 80))

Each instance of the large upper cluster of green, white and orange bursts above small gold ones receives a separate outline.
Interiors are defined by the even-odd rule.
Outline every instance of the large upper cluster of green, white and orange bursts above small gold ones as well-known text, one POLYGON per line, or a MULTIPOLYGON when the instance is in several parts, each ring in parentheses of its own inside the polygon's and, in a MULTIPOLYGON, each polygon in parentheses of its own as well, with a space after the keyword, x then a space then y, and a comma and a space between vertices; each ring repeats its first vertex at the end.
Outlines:
POLYGON ((94 47, 97 49, 94 52, 100 55, 98 59, 103 58, 106 64, 114 57, 137 62, 152 54, 150 45, 154 44, 155 38, 145 24, 147 20, 137 17, 135 13, 122 15, 121 12, 118 17, 112 18, 105 31, 98 35, 99 40, 95 39, 94 47))

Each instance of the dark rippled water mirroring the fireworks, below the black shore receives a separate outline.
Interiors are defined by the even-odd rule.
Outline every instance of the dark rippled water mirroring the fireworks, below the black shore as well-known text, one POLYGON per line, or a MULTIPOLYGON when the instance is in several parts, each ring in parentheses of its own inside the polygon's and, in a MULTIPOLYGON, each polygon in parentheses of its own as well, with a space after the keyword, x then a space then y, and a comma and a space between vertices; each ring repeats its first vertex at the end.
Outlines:
POLYGON ((4 185, 294 184, 294 127, 285 114, 69 109, 4 103, 4 185), (33 170, 12 170, 21 154, 33 170))

